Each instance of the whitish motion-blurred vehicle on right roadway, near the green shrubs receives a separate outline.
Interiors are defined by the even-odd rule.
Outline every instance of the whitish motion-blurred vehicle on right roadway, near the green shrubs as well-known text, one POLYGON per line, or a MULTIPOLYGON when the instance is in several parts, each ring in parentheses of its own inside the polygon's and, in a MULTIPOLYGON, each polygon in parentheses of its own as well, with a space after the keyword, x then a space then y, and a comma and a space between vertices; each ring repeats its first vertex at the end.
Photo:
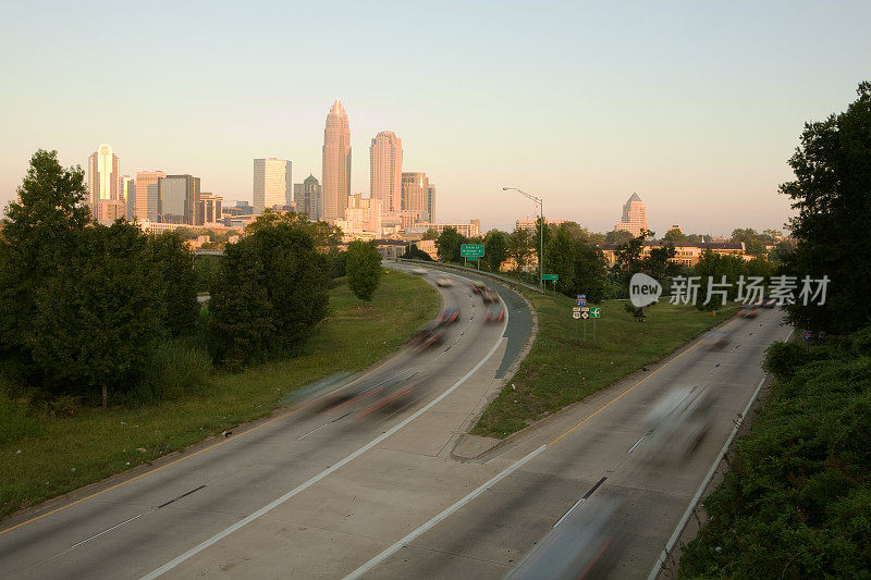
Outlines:
POLYGON ((646 417, 652 453, 677 461, 691 455, 711 425, 715 398, 701 385, 675 386, 663 395, 646 417))

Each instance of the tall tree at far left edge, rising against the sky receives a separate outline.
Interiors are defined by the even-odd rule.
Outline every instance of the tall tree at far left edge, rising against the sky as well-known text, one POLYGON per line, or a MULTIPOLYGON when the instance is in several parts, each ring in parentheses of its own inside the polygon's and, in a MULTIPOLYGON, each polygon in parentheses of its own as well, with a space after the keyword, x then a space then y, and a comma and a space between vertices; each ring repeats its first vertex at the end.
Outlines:
POLYGON ((30 382, 40 377, 32 353, 37 293, 72 259, 90 212, 82 168, 63 169, 57 151, 34 153, 16 193, 0 232, 0 362, 30 382))

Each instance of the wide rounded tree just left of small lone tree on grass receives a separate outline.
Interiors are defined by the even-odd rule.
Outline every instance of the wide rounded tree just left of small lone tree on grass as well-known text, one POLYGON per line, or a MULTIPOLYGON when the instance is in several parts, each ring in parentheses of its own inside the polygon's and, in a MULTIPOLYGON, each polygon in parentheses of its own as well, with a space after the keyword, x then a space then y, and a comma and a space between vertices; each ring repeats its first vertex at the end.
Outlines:
POLYGON ((300 345, 327 316, 327 270, 306 224, 278 221, 230 244, 209 300, 217 360, 238 367, 300 345))

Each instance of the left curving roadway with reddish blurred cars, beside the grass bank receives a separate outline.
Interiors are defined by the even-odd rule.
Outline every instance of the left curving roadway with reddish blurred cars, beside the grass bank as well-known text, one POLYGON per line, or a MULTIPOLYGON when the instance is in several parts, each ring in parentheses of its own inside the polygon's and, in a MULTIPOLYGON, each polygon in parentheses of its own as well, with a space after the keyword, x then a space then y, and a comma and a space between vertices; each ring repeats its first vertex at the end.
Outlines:
MULTIPOLYGON (((331 576, 343 566, 336 540, 354 536, 324 540, 333 532, 305 525, 311 515, 363 529, 380 527, 385 534, 403 521, 428 517, 431 506, 462 490, 461 482, 447 483, 452 467, 461 465, 451 459, 453 444, 470 424, 470 409, 499 387, 511 363, 506 353, 516 357, 531 324, 523 300, 504 288, 500 292, 514 311, 502 322, 486 323, 469 281, 451 277, 456 284, 439 291, 445 307, 461 309, 461 319, 447 326, 444 342, 397 353, 358 383, 400 377, 401 388, 390 396, 376 388, 328 409, 292 408, 150 470, 133 470, 7 519, 0 525, 0 577, 140 578, 221 534, 235 542, 260 533, 287 513, 295 514, 296 523, 279 526, 278 536, 300 533, 303 543, 291 551, 312 564, 318 557, 333 560, 317 571, 331 576), (417 481, 425 474, 436 493, 416 504, 417 481), (353 488, 357 492, 346 493, 353 488)), ((434 279, 427 276, 433 285, 434 279)), ((283 557, 289 550, 286 544, 262 547, 283 557)), ((220 544, 200 550, 170 576, 184 576, 185 565, 223 552, 220 544)), ((238 575, 254 573, 243 571, 243 563, 267 560, 252 555, 238 562, 221 557, 213 570, 238 567, 238 575)), ((282 566, 271 576, 287 570, 282 566)))

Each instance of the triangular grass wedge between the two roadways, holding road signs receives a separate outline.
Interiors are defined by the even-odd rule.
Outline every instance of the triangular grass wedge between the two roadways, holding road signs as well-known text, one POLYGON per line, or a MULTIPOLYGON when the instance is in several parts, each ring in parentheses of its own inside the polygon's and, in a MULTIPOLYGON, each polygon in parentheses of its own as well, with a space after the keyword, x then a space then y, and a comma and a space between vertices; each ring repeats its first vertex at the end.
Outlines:
MULTIPOLYGON (((637 322, 619 300, 602 303, 602 318, 572 318, 575 300, 553 293, 524 292, 538 312, 538 336, 517 373, 484 409, 471 433, 504 439, 532 422, 655 362, 682 344, 723 322, 694 306, 667 301, 645 308, 637 322), (577 332, 577 338, 576 336, 577 332)), ((733 312, 733 311, 729 311, 733 312)))

